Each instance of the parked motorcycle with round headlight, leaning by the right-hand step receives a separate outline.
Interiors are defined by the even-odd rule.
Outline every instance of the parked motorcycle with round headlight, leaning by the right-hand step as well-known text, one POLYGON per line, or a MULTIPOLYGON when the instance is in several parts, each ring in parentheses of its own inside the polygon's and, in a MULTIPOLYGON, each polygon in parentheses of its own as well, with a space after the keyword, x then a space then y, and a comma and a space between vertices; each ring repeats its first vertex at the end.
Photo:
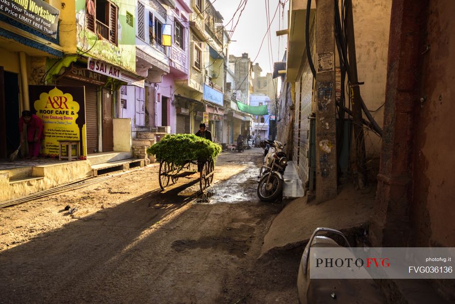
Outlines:
POLYGON ((283 192, 283 174, 288 165, 288 158, 283 152, 284 146, 279 141, 263 141, 264 164, 259 172, 257 196, 262 201, 274 201, 283 192))

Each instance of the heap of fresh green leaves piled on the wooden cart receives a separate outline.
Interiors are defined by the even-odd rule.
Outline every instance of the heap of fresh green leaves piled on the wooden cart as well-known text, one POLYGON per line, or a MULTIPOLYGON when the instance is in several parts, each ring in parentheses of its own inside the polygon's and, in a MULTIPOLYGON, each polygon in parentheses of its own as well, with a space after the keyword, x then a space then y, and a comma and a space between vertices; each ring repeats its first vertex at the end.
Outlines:
POLYGON ((194 134, 168 134, 147 149, 147 153, 157 159, 165 159, 177 166, 183 166, 188 160, 214 161, 220 152, 220 145, 194 134))

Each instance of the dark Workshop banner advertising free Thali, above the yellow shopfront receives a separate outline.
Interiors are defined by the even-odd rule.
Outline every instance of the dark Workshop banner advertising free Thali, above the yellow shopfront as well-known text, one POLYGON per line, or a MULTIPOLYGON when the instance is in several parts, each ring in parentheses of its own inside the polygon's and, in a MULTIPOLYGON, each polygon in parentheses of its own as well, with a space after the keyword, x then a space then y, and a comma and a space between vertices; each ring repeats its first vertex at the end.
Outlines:
POLYGON ((60 11, 42 0, 0 0, 0 13, 57 38, 60 11))

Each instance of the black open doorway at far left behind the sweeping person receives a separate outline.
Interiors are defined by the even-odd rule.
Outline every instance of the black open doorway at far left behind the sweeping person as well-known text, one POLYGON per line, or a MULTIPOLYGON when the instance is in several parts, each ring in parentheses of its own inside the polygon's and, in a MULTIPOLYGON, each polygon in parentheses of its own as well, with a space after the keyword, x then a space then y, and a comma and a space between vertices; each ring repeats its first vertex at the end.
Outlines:
POLYGON ((19 133, 19 81, 18 75, 0 67, 0 158, 6 158, 17 149, 19 133))

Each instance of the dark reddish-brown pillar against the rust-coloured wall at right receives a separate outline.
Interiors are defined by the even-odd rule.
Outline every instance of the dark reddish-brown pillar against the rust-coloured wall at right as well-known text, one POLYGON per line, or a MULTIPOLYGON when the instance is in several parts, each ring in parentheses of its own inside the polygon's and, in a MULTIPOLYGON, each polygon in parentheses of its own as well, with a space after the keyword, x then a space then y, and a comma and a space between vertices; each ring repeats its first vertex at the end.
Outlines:
POLYGON ((392 3, 378 190, 370 236, 375 247, 401 247, 410 234, 414 107, 420 97, 428 2, 392 3))

